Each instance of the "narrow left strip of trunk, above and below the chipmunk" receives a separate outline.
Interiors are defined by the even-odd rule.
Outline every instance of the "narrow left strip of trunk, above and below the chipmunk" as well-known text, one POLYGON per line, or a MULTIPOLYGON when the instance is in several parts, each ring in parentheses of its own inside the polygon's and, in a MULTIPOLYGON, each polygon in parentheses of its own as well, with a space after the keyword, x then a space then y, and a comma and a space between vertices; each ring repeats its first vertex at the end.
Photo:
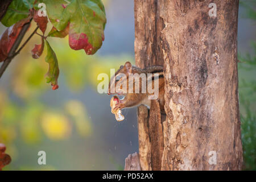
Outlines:
MULTIPOLYGON (((140 68, 148 65, 163 65, 163 52, 160 50, 160 31, 163 30, 162 19, 159 18, 157 1, 134 1, 135 15, 135 60, 136 65, 140 68)), ((156 104, 156 103, 154 103, 156 104)), ((157 107, 157 106, 156 106, 157 107)), ((155 108, 155 107, 154 107, 155 108)), ((155 132, 158 132, 162 125, 158 112, 152 112, 151 119, 146 106, 138 107, 138 133, 139 133, 139 162, 142 170, 160 169, 163 140, 160 143, 153 143, 152 139, 157 140, 155 132), (155 120, 157 119, 157 120, 155 120), (150 121, 149 121, 150 120, 150 121), (150 128, 149 122, 152 125, 159 126, 154 131, 154 126, 150 128), (152 134, 150 134, 152 132, 152 134), (152 147, 152 150, 151 150, 152 147), (151 154, 152 152, 152 154, 151 154), (153 161, 151 161, 153 160, 153 161), (151 167, 151 162, 156 166, 151 167)), ((163 131, 160 131, 163 135, 163 131)), ((159 136, 161 135, 159 133, 159 136)))

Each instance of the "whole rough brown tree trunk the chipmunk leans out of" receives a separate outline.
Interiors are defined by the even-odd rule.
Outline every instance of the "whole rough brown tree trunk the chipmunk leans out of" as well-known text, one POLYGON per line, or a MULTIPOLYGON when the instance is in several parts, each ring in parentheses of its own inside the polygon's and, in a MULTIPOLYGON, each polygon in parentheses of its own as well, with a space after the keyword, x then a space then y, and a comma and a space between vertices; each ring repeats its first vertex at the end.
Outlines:
POLYGON ((166 81, 166 119, 138 108, 141 169, 240 170, 238 0, 134 0, 134 13, 136 64, 164 65, 166 81))

